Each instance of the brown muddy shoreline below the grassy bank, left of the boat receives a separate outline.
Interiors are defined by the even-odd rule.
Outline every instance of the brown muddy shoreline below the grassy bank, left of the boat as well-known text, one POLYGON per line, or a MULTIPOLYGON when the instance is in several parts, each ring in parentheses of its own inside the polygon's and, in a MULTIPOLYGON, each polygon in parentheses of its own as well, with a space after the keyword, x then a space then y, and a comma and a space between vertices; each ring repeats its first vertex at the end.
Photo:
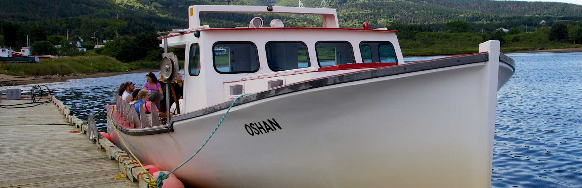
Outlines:
POLYGON ((0 74, 0 87, 2 86, 19 86, 27 84, 45 84, 63 82, 72 79, 90 79, 95 77, 108 77, 115 75, 126 75, 131 73, 153 72, 152 69, 137 69, 129 72, 97 72, 76 75, 47 75, 47 76, 12 76, 0 74))

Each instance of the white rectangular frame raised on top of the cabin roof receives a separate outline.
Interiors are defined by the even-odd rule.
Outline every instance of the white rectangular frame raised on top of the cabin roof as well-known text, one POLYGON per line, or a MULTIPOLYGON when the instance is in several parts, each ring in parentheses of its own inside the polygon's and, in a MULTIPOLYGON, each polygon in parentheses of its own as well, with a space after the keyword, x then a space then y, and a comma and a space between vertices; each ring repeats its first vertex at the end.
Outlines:
POLYGON ((193 5, 188 8, 188 26, 200 27, 200 13, 285 13, 299 15, 321 15, 322 27, 339 28, 335 9, 304 8, 290 6, 244 6, 244 5, 193 5))

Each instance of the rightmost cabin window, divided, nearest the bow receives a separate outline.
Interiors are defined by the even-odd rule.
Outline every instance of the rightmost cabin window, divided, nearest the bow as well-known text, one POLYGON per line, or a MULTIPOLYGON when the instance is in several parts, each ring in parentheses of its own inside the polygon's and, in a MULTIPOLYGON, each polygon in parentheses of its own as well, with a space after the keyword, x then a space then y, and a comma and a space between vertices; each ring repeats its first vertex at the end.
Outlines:
POLYGON ((388 41, 363 41, 360 43, 362 62, 398 63, 394 47, 388 41))

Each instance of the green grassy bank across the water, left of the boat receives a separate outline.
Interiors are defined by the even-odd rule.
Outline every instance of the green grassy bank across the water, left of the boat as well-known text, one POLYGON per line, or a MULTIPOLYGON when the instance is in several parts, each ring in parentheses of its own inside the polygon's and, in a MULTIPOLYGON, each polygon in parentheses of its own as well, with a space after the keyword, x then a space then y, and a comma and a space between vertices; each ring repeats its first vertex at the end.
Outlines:
MULTIPOLYGON (((183 64, 182 64, 183 65, 183 64)), ((6 75, 45 76, 72 73, 126 72, 135 69, 159 69, 159 62, 137 61, 123 63, 109 56, 73 56, 41 59, 37 63, 0 62, 6 75)))

